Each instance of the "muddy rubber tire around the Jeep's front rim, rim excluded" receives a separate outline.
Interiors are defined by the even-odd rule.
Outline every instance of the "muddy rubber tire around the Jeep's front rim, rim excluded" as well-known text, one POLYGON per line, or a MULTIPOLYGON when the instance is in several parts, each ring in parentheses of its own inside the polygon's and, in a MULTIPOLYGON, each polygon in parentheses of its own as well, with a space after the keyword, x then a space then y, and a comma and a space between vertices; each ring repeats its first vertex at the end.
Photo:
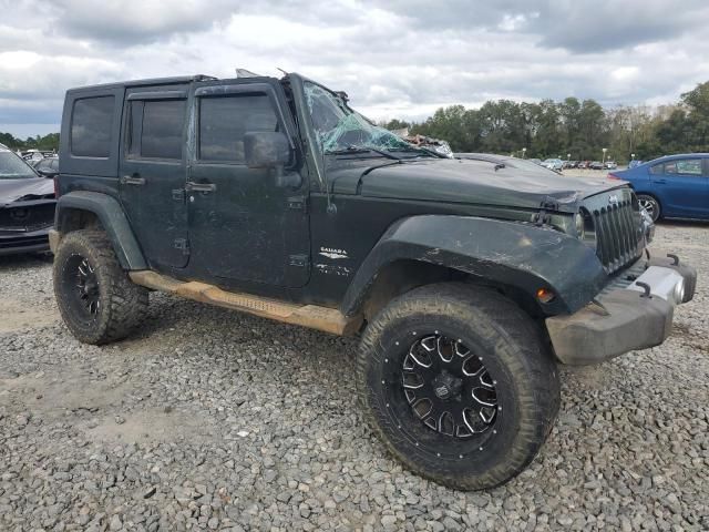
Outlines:
POLYGON ((497 291, 463 283, 417 288, 384 307, 362 336, 357 387, 367 421, 395 458, 424 478, 461 490, 493 488, 523 471, 546 440, 559 407, 556 362, 535 324, 497 291), (490 431, 484 444, 474 443, 461 454, 448 452, 445 441, 432 451, 431 440, 425 440, 424 449, 417 438, 433 438, 425 431, 434 431, 418 418, 400 415, 403 410, 392 403, 394 388, 402 385, 389 376, 392 365, 395 372, 395 365, 407 357, 405 339, 434 330, 455 335, 475 354, 484 352, 499 390, 495 433, 490 431))

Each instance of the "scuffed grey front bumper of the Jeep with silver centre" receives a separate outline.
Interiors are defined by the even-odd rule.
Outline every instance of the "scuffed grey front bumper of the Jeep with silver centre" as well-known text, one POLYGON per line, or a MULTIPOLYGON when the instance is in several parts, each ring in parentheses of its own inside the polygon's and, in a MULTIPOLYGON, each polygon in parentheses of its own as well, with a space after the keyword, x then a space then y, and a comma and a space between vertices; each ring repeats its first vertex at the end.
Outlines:
POLYGON ((689 301, 697 286, 697 270, 674 263, 647 260, 645 272, 626 288, 603 294, 575 314, 547 318, 556 358, 568 365, 598 364, 662 344, 675 306, 689 301))

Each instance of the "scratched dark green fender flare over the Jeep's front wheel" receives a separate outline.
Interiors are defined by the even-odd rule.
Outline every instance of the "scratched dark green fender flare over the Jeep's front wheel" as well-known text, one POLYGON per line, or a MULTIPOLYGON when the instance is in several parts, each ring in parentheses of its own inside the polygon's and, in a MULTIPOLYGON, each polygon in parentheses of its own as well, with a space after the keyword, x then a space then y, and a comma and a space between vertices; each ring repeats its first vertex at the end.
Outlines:
POLYGON ((492 286, 527 314, 573 313, 603 287, 606 275, 588 246, 531 224, 470 216, 403 218, 381 237, 342 299, 345 315, 372 316, 417 286, 466 280, 492 286), (556 297, 541 305, 540 288, 556 297))

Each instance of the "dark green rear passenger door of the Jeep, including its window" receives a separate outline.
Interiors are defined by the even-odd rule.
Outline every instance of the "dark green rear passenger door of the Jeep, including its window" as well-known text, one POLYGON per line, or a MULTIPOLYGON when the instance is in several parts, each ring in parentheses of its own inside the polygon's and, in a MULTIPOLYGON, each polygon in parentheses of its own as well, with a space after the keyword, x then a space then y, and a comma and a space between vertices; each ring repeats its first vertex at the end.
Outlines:
POLYGON ((151 267, 187 264, 185 121, 187 88, 126 91, 120 190, 123 207, 151 267))

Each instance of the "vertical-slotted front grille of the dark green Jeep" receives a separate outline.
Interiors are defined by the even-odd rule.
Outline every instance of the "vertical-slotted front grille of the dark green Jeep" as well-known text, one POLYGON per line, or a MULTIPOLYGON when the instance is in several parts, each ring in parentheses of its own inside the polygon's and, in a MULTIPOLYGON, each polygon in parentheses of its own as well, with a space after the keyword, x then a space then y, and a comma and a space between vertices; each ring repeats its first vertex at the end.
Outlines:
POLYGON ((596 255, 606 273, 627 266, 643 254, 645 241, 631 196, 592 211, 596 231, 596 255))

